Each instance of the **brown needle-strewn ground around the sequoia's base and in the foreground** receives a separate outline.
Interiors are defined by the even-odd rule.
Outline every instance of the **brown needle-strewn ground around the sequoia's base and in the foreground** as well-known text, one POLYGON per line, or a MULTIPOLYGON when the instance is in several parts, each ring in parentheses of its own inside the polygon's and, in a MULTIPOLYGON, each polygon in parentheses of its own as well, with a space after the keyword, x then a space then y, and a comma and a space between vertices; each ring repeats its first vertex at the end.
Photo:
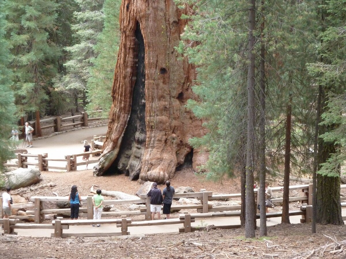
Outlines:
MULTIPOLYGON (((124 175, 94 177, 92 170, 73 172, 42 172, 43 183, 55 186, 44 190, 19 189, 24 196, 68 195, 76 184, 82 195, 88 195, 92 184, 102 190, 135 194, 140 185, 124 175)), ((207 189, 215 194, 238 193, 237 179, 222 183, 206 181, 191 168, 178 171, 172 186, 189 185, 195 191, 207 189)), ((163 185, 159 185, 163 189, 163 185)), ((15 191, 14 191, 15 193, 15 191)), ((294 204, 293 204, 294 205, 294 204)), ((300 204, 295 204, 299 206, 300 204)), ((279 206, 275 210, 281 210, 279 206)), ((179 213, 173 213, 172 218, 179 213)), ((143 215, 140 216, 143 218, 143 215)), ((138 220, 138 219, 137 219, 138 220)), ((143 220, 143 219, 142 219, 143 220)), ((193 233, 147 234, 102 238, 37 238, 16 235, 0 237, 0 258, 346 258, 346 228, 344 226, 317 226, 311 234, 310 224, 279 224, 268 227, 266 237, 246 239, 244 229, 217 229, 193 233)))

